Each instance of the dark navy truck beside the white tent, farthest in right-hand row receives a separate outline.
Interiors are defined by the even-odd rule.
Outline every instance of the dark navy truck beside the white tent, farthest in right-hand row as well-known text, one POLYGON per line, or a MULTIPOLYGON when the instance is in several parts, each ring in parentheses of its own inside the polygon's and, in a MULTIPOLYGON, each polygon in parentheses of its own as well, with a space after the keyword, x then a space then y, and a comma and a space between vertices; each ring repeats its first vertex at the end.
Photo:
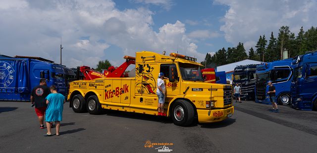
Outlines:
POLYGON ((257 65, 240 65, 234 68, 232 85, 238 83, 241 86, 241 99, 254 100, 256 86, 257 65))

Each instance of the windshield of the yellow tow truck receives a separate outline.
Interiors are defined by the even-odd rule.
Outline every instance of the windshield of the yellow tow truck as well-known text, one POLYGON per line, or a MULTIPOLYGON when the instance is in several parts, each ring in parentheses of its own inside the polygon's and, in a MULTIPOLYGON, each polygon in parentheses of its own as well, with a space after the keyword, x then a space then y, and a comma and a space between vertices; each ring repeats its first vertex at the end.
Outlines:
POLYGON ((199 65, 179 63, 179 67, 184 80, 203 81, 199 65))

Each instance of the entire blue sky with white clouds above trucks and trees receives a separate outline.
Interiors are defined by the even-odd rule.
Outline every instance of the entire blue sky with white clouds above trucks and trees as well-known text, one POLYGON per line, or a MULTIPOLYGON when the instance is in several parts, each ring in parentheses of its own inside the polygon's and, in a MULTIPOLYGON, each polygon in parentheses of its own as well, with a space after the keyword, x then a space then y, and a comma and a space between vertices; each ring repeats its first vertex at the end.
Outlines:
POLYGON ((206 53, 287 25, 295 34, 317 26, 316 0, 1 0, 0 54, 39 56, 63 64, 118 66, 136 51, 206 53))

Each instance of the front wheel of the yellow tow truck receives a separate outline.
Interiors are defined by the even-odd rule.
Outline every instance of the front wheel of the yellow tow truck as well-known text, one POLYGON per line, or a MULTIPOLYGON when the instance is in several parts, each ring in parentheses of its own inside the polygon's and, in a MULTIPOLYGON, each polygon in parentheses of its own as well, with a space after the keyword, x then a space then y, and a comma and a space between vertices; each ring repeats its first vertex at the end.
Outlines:
POLYGON ((185 100, 177 100, 172 108, 172 119, 175 125, 188 126, 194 121, 194 108, 185 100))

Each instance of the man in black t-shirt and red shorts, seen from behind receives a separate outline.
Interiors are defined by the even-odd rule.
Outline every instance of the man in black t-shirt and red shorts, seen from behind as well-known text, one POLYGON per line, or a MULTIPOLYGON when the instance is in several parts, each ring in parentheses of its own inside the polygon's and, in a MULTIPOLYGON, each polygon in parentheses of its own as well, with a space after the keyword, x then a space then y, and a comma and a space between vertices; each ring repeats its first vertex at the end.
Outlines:
POLYGON ((49 87, 46 86, 46 79, 40 79, 40 85, 33 88, 31 93, 31 103, 35 104, 35 112, 38 115, 40 128, 44 129, 44 114, 47 108, 46 97, 51 93, 49 87))

